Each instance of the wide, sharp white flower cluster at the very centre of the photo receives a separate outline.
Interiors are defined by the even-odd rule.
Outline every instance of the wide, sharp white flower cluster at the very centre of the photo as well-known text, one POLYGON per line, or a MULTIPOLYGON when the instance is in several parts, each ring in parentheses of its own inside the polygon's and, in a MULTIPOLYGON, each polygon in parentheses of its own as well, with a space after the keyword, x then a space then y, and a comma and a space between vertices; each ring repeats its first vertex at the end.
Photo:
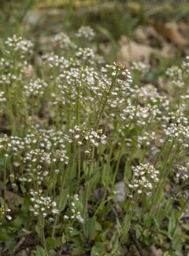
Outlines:
POLYGON ((74 129, 69 129, 69 133, 73 134, 79 146, 83 146, 84 143, 89 143, 91 146, 99 146, 99 142, 105 144, 106 136, 102 134, 102 130, 95 132, 92 127, 89 127, 85 123, 82 126, 75 125, 74 129))

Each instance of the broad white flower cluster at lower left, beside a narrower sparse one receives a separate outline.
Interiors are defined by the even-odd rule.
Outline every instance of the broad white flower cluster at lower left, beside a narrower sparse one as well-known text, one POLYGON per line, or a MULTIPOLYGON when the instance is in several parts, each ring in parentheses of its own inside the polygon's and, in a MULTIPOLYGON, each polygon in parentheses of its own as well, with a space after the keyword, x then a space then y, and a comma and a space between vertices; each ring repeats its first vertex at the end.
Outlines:
MULTIPOLYGON (((31 189, 30 195, 32 196, 30 201, 33 202, 33 206, 30 206, 30 211, 33 212, 34 216, 43 216, 45 218, 50 215, 59 214, 56 202, 52 201, 50 197, 43 197, 41 189, 38 191, 31 189)), ((49 217, 49 221, 53 222, 54 219, 49 217)))

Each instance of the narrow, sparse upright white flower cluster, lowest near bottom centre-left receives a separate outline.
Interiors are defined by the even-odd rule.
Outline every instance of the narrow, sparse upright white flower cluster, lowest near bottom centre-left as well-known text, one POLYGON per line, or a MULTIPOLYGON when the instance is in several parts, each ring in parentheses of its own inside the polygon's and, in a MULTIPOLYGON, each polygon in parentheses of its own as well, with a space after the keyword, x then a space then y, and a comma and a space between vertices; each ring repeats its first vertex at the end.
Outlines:
MULTIPOLYGON (((74 201, 79 201, 78 194, 75 194, 73 197, 70 197, 70 198, 71 198, 71 202, 70 202, 71 209, 67 213, 67 215, 63 216, 63 219, 64 220, 70 220, 71 221, 70 224, 72 224, 72 225, 73 225, 73 223, 75 221, 79 221, 81 223, 84 223, 84 219, 81 216, 81 212, 78 210, 78 208, 76 206, 76 203, 74 202, 74 201)), ((69 229, 70 232, 73 231, 73 227, 72 226, 69 226, 68 229, 69 229)))

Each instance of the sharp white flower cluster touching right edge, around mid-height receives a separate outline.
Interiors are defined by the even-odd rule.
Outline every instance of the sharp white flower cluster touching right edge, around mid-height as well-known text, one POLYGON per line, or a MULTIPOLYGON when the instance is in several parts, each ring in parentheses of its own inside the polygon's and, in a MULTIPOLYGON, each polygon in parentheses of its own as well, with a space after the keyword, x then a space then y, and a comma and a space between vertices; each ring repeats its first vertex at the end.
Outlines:
POLYGON ((188 127, 182 125, 181 123, 171 123, 171 126, 167 129, 164 129, 164 133, 173 138, 189 138, 188 127))

